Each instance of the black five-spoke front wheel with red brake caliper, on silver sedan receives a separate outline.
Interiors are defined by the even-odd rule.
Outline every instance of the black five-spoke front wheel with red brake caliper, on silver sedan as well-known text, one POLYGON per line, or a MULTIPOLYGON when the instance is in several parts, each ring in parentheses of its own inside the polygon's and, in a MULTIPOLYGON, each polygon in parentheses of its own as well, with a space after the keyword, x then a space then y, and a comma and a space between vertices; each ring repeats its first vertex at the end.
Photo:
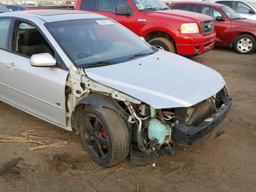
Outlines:
POLYGON ((128 156, 129 130, 116 111, 86 106, 80 114, 79 126, 84 148, 100 166, 114 166, 128 156))

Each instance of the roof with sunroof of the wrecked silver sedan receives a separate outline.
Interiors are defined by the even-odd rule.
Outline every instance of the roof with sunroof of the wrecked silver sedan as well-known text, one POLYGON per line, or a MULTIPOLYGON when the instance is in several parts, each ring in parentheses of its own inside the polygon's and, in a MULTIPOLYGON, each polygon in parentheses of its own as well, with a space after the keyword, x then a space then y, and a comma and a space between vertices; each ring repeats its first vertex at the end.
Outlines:
POLYGON ((86 11, 74 11, 74 10, 29 10, 29 11, 15 11, 1 13, 0 16, 10 16, 19 18, 40 18, 45 22, 56 22, 64 20, 78 20, 78 19, 97 19, 106 18, 100 14, 86 12, 86 11))

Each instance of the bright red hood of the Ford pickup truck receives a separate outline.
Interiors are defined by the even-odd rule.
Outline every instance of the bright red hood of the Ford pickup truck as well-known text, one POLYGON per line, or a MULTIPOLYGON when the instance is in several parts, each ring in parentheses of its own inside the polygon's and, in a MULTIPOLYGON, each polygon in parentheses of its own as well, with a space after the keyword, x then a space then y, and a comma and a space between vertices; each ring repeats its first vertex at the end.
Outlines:
POLYGON ((205 20, 212 20, 210 16, 190 12, 190 11, 183 11, 183 10, 162 10, 162 11, 148 11, 148 16, 154 17, 161 17, 161 18, 171 18, 176 20, 181 20, 184 23, 190 22, 202 22, 205 20))

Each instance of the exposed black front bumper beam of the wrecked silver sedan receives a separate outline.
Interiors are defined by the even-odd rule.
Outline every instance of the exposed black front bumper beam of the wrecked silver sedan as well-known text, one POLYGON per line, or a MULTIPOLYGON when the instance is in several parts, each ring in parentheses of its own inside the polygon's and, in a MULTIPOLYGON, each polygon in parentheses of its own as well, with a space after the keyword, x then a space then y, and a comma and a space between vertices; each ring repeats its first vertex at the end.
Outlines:
POLYGON ((186 126, 184 124, 176 124, 173 128, 173 138, 187 144, 192 144, 199 141, 208 133, 210 133, 230 112, 232 106, 232 99, 228 98, 220 108, 218 114, 214 113, 208 119, 204 120, 198 126, 186 126))

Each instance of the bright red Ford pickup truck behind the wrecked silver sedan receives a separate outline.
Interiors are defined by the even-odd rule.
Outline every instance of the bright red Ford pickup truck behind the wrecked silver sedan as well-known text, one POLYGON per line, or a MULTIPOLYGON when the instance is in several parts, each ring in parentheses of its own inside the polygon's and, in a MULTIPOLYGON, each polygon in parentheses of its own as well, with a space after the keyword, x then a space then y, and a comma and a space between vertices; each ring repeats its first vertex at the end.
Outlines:
POLYGON ((35 9, 74 9, 116 20, 157 48, 195 56, 213 48, 216 32, 211 17, 170 10, 160 0, 77 0, 74 7, 44 6, 35 9))

